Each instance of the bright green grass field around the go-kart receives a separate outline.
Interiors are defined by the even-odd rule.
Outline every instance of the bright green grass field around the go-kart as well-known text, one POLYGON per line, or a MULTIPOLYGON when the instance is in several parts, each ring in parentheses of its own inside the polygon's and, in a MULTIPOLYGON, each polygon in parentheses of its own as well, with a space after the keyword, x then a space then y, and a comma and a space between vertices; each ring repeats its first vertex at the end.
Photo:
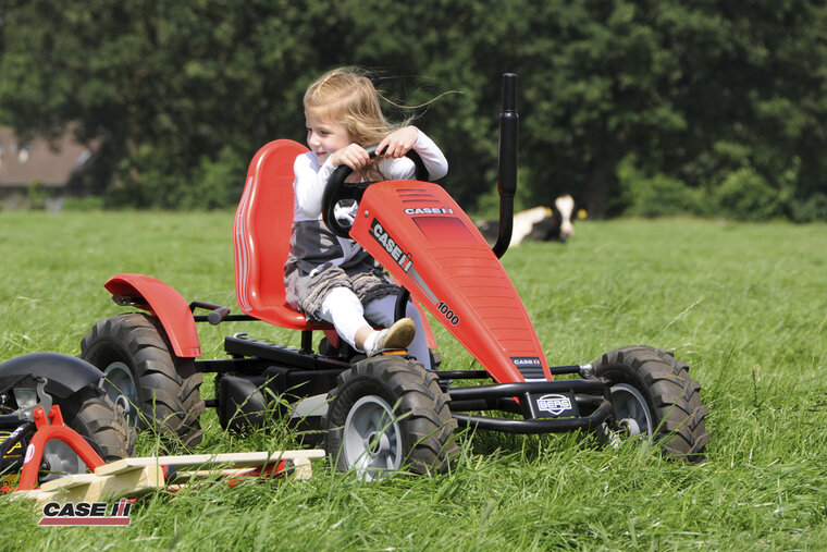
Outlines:
MULTIPOLYGON (((116 272, 235 309, 231 229, 232 213, 0 213, 0 360, 78 354, 95 321, 124 311, 102 287, 116 272)), ((590 222, 504 263, 550 363, 630 344, 688 361, 709 408, 708 462, 571 434, 461 434, 449 476, 365 484, 322 461, 310 481, 159 493, 128 528, 40 529, 30 505, 0 502, 0 549, 827 548, 826 225, 590 222)), ((298 345, 250 323, 199 331, 212 358, 236 331, 298 345)), ((445 368, 471 365, 441 329, 437 340, 445 368)), ((295 447, 276 421, 248 439, 213 413, 202 424, 201 452, 295 447)), ((153 447, 144 436, 138 453, 153 447)))

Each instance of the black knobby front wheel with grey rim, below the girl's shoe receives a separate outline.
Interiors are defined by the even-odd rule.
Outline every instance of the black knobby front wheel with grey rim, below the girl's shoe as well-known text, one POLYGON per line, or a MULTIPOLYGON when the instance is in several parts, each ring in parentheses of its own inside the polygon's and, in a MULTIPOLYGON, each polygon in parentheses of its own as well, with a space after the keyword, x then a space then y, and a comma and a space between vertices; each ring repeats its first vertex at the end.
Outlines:
POLYGON ((354 469, 366 481, 403 467, 441 474, 457 456, 450 398, 416 360, 360 360, 340 375, 328 398, 325 449, 340 471, 354 469))

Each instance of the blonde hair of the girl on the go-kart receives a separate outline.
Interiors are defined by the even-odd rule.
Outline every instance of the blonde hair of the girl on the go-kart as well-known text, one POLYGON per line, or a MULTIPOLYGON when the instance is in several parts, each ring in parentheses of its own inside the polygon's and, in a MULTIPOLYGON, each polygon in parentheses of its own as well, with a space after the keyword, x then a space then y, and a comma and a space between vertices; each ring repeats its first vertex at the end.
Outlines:
POLYGON ((343 125, 355 143, 366 147, 382 142, 398 127, 385 119, 381 97, 363 70, 338 68, 307 88, 304 105, 305 111, 343 125))

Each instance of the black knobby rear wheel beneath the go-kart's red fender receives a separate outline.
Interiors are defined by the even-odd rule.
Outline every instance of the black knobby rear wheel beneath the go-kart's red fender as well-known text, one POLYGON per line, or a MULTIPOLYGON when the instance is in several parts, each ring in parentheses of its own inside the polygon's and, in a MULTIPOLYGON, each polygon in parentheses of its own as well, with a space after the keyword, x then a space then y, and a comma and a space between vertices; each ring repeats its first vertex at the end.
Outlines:
POLYGON ((178 358, 155 320, 120 315, 96 323, 81 342, 81 357, 103 371, 103 389, 137 429, 152 426, 186 446, 201 442, 202 376, 192 358, 178 358))

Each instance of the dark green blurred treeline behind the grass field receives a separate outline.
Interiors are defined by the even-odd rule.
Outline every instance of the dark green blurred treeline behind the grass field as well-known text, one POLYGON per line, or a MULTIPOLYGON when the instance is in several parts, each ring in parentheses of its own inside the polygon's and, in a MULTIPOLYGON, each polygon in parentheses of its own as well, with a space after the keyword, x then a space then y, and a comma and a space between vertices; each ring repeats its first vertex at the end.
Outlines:
POLYGON ((86 185, 109 206, 233 205, 259 146, 304 140, 307 85, 358 64, 443 146, 469 209, 491 205, 510 71, 518 206, 571 193, 593 217, 827 220, 823 1, 0 5, 0 124, 75 124, 100 144, 86 185))

